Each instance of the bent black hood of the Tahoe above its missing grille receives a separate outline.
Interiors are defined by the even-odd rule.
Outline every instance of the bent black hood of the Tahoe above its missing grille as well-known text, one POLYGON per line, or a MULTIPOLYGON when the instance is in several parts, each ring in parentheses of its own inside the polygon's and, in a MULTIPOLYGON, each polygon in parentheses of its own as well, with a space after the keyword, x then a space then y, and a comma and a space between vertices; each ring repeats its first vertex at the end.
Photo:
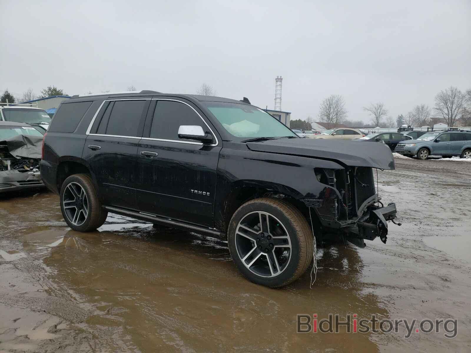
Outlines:
POLYGON ((395 169, 394 158, 386 144, 364 141, 338 141, 317 138, 279 138, 247 142, 252 151, 293 154, 338 160, 348 166, 395 169))

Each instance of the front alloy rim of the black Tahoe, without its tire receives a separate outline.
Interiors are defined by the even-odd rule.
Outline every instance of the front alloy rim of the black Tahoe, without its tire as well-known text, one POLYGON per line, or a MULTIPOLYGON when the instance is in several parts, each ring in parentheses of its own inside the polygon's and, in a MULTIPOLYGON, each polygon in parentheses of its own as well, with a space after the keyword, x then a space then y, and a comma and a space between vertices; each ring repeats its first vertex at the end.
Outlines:
POLYGON ((235 231, 235 248, 245 267, 261 277, 275 277, 291 260, 291 240, 284 225, 268 212, 245 215, 235 231))

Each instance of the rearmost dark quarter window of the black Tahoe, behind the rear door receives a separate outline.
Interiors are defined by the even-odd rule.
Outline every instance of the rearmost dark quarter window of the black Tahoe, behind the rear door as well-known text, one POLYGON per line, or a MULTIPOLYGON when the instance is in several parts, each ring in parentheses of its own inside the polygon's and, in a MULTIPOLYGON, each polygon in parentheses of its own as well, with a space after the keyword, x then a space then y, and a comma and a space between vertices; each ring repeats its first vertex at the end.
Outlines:
POLYGON ((74 132, 93 102, 76 102, 62 104, 56 112, 48 131, 74 132))

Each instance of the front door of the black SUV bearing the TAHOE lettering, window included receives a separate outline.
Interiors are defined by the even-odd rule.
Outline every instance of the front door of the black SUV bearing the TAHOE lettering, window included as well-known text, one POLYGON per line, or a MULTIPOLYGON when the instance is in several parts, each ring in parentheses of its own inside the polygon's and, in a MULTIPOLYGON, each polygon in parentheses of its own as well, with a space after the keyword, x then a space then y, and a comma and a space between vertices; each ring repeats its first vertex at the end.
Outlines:
POLYGON ((138 146, 138 209, 211 227, 220 143, 203 145, 178 137, 180 125, 209 130, 189 104, 159 99, 152 109, 138 146))

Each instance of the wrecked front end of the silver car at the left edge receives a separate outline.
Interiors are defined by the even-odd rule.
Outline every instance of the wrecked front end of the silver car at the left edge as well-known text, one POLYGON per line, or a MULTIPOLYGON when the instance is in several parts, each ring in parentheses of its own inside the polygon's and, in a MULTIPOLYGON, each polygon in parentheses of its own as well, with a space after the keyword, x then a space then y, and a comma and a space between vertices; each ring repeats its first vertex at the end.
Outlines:
POLYGON ((18 135, 0 141, 0 193, 44 186, 39 171, 42 139, 18 135))

